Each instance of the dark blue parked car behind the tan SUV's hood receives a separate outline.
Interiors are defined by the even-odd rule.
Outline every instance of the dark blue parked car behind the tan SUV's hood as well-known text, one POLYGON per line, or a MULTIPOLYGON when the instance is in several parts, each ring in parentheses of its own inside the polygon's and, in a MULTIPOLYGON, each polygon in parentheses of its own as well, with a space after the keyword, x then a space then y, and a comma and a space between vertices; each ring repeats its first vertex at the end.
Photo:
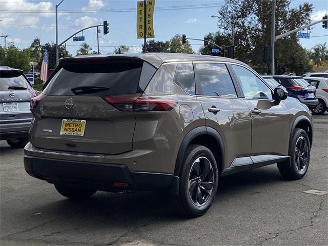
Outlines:
POLYGON ((319 101, 316 98, 316 89, 302 77, 292 75, 272 75, 272 77, 287 89, 289 96, 297 98, 309 109, 317 107, 319 101))

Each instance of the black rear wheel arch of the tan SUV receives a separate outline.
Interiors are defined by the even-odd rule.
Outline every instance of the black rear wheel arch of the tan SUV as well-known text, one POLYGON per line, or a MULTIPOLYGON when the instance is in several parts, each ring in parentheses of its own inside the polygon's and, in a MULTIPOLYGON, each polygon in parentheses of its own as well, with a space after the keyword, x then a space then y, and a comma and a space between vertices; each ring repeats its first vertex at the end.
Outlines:
POLYGON ((217 162, 219 174, 224 167, 224 145, 220 134, 211 127, 197 127, 187 133, 183 138, 175 162, 174 175, 179 176, 183 156, 189 145, 202 145, 209 148, 217 162))

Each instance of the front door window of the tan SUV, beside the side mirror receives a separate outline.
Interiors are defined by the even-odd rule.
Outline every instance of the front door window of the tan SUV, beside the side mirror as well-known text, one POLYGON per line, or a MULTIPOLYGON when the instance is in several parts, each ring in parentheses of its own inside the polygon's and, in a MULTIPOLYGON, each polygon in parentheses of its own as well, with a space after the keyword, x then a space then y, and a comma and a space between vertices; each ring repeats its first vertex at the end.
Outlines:
POLYGON ((245 98, 270 99, 271 90, 254 73, 241 66, 232 65, 245 98))

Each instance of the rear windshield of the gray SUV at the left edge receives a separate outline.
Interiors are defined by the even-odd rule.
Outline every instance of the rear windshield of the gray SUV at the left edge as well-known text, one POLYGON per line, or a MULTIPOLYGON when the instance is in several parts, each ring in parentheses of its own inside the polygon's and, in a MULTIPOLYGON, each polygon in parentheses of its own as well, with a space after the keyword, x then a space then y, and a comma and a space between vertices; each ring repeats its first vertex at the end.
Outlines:
POLYGON ((0 71, 0 90, 31 89, 30 84, 22 73, 0 71))

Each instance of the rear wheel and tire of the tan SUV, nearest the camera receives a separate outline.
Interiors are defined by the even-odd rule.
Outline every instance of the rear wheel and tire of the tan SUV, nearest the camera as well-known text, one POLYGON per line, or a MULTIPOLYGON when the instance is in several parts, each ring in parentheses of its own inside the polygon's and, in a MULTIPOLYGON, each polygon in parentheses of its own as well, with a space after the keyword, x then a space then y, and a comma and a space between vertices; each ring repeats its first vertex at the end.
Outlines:
POLYGON ((170 199, 173 210, 187 217, 206 213, 213 203, 218 186, 218 170, 213 153, 204 146, 190 145, 183 157, 179 177, 179 194, 170 199))

